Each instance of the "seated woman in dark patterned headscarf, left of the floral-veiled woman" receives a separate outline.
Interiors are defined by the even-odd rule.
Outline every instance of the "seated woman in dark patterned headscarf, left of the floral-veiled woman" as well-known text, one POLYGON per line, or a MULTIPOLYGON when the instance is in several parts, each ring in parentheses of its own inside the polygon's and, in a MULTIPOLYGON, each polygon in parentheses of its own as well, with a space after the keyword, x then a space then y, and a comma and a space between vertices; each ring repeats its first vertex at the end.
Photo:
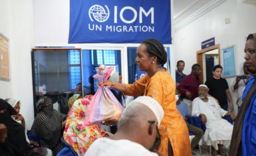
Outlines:
POLYGON ((66 124, 65 116, 53 110, 53 101, 47 96, 43 96, 37 102, 37 116, 31 128, 31 133, 35 133, 40 139, 40 145, 47 147, 56 155, 63 149, 61 137, 62 129, 66 124))

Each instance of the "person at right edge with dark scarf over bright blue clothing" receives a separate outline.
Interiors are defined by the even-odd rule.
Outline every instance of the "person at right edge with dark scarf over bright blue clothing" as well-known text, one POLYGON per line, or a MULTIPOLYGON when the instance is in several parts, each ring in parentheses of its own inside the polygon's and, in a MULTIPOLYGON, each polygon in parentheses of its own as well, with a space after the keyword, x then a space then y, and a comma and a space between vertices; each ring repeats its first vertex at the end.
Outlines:
POLYGON ((229 155, 255 155, 256 153, 256 33, 245 43, 245 65, 251 75, 243 91, 243 104, 235 118, 229 155))

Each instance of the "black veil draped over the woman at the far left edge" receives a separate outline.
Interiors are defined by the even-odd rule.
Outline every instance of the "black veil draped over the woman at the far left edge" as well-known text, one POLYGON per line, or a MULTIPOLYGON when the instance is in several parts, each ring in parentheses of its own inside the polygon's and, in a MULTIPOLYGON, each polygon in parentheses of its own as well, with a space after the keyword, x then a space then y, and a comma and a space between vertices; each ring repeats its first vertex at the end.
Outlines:
POLYGON ((25 129, 11 117, 11 115, 16 115, 17 112, 3 99, 0 99, 0 110, 5 110, 0 114, 0 123, 7 127, 7 142, 11 143, 17 151, 25 153, 29 148, 24 133, 25 129))

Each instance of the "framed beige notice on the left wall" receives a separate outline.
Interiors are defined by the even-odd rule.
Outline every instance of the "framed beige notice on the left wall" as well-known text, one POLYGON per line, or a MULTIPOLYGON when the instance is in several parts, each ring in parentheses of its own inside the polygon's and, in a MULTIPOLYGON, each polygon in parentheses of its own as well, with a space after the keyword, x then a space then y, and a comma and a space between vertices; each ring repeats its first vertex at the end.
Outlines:
POLYGON ((9 40, 0 33, 0 79, 10 80, 9 40))

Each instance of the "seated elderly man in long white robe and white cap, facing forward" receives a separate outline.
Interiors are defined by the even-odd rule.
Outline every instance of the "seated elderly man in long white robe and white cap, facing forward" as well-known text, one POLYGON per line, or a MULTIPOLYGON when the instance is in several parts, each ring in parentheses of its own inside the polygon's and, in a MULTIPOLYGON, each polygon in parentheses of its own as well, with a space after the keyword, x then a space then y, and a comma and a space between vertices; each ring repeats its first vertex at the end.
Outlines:
POLYGON ((213 146, 212 154, 227 155, 223 151, 223 145, 226 148, 229 147, 233 125, 222 117, 229 115, 232 119, 235 119, 235 116, 231 112, 223 110, 215 98, 208 96, 207 92, 206 85, 199 85, 198 97, 192 103, 192 116, 201 117, 202 123, 205 124, 206 130, 203 135, 203 141, 211 142, 213 146))

